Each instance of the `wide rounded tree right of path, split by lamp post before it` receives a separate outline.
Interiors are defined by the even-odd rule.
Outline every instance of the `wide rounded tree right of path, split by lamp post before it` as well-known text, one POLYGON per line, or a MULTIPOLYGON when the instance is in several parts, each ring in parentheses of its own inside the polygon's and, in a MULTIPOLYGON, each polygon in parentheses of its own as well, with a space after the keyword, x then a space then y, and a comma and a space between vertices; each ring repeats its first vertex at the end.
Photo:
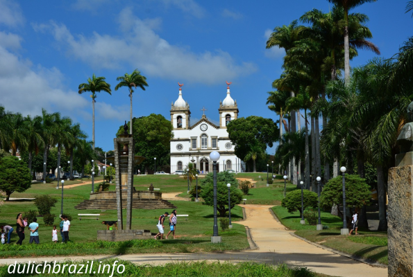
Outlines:
MULTIPOLYGON (((321 192, 321 205, 331 207, 332 204, 343 202, 343 177, 337 176, 330 179, 321 192)), ((371 192, 366 179, 359 175, 346 175, 346 205, 361 208, 369 205, 371 192)))

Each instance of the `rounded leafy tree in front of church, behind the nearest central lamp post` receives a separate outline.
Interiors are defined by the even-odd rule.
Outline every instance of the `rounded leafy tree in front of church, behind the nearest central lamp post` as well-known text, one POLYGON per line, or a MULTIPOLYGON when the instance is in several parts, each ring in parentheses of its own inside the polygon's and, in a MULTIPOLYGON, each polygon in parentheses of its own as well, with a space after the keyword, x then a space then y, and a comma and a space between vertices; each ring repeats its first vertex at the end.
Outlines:
MULTIPOLYGON (((206 205, 214 206, 213 183, 208 182, 202 186, 201 197, 205 201, 206 205)), ((230 200, 231 208, 241 203, 242 201, 242 191, 239 190, 236 186, 230 187, 230 200)), ((220 217, 225 217, 226 212, 228 211, 228 188, 226 186, 226 183, 222 181, 217 182, 217 211, 220 217)))

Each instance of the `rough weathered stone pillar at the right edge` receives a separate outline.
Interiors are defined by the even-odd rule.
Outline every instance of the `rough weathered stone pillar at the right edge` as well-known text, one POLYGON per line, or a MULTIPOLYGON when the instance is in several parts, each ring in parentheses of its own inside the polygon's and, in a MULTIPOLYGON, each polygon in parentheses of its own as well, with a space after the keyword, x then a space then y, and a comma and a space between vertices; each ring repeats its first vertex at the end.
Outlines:
POLYGON ((413 276, 413 166, 389 169, 389 276, 413 276))

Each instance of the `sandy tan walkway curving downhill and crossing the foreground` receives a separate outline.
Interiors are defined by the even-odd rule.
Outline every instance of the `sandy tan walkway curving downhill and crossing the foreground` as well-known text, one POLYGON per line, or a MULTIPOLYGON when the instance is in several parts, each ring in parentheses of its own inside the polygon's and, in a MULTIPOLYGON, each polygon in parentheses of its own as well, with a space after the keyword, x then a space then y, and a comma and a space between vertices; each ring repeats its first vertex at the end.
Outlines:
POLYGON ((122 256, 75 256, 75 257, 51 257, 51 258, 8 258, 1 259, 0 264, 9 265, 17 262, 90 260, 102 258, 120 258, 136 264, 164 265, 168 262, 178 261, 258 261, 272 265, 286 263, 289 266, 301 266, 310 268, 318 273, 330 276, 363 276, 381 277, 387 276, 387 269, 371 267, 362 262, 357 262, 339 256, 330 251, 321 249, 290 235, 285 227, 273 219, 266 205, 243 205, 246 209, 247 219, 239 222, 251 229, 254 242, 258 249, 249 251, 224 252, 224 253, 154 253, 154 254, 130 254, 122 256))

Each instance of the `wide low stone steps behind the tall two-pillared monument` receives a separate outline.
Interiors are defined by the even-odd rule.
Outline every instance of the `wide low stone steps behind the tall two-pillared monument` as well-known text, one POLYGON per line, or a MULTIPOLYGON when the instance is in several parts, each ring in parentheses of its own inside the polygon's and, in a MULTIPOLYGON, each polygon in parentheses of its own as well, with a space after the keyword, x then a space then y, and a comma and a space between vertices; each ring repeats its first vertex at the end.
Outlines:
MULTIPOLYGON (((116 199, 85 200, 74 206, 78 210, 117 210, 116 199)), ((122 208, 126 208, 126 199, 122 199, 122 208)), ((176 208, 164 199, 133 199, 132 208, 153 210, 157 208, 176 208)))

